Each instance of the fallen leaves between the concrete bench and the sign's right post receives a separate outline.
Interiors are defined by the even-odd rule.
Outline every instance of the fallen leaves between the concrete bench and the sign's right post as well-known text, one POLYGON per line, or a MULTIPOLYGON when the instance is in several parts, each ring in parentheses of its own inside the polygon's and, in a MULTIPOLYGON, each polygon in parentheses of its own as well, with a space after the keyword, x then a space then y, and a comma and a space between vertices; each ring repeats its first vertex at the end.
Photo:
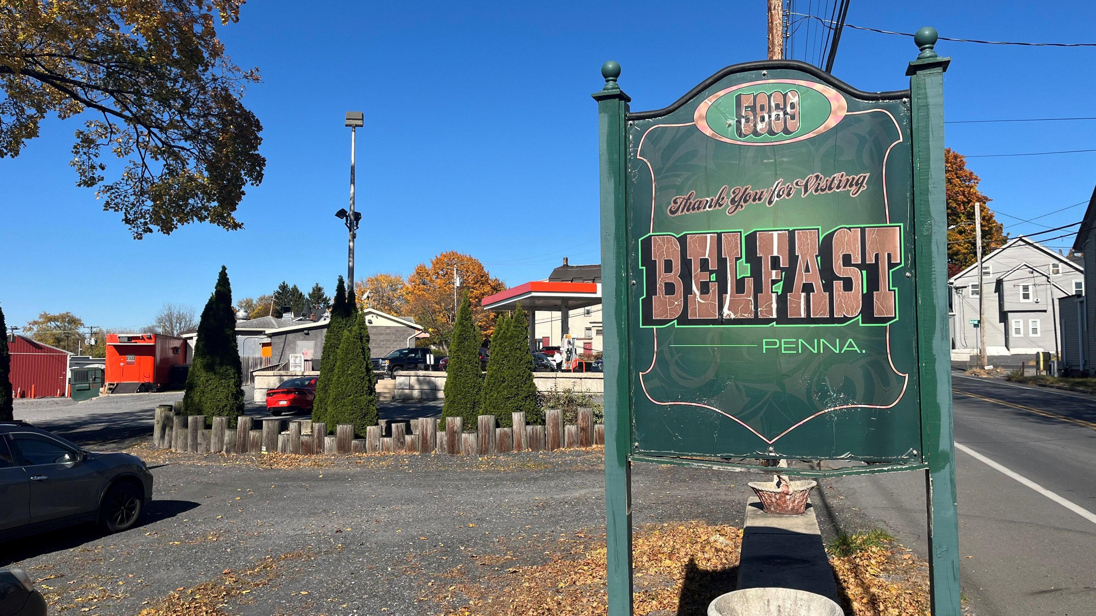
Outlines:
POLYGON ((928 616, 928 566, 894 545, 830 559, 853 616, 928 616))

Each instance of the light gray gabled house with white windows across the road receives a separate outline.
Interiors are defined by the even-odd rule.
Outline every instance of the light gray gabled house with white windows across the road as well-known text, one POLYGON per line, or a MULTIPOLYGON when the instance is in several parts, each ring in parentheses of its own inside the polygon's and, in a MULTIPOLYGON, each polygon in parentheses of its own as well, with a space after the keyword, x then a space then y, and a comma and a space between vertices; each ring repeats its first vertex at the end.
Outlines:
MULTIPOLYGON (((1054 252, 1023 236, 982 258, 986 355, 1058 352, 1059 299, 1084 289, 1085 269, 1075 256, 1054 252)), ((951 358, 978 353, 977 264, 948 281, 951 358)))

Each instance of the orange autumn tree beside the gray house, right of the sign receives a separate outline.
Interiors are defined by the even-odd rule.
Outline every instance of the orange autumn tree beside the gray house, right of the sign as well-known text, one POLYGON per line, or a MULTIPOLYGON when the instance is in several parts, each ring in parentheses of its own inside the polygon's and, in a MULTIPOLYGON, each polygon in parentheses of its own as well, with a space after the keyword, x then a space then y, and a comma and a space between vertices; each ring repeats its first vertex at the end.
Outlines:
POLYGON ((982 204, 982 254, 989 254, 1008 241, 1004 226, 997 223, 986 204, 993 199, 978 190, 981 178, 967 169, 967 159, 951 148, 944 150, 944 176, 948 201, 948 276, 954 276, 977 260, 974 204, 982 204))

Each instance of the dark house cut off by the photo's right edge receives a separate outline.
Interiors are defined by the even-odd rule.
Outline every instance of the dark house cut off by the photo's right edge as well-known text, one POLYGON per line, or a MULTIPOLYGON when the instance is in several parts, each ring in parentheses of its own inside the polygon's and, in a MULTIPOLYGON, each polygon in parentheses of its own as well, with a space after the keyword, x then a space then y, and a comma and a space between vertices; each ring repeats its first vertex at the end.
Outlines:
POLYGON ((1077 237, 1073 240, 1074 253, 1080 253, 1084 262, 1085 274, 1081 283, 1074 283, 1077 293, 1070 297, 1063 297, 1058 301, 1061 320, 1062 340, 1062 368, 1066 374, 1093 375, 1096 374, 1096 340, 1093 339, 1096 332, 1096 305, 1089 304, 1084 295, 1084 289, 1096 284, 1092 276, 1096 276, 1096 190, 1088 199, 1088 209, 1077 229, 1077 237))

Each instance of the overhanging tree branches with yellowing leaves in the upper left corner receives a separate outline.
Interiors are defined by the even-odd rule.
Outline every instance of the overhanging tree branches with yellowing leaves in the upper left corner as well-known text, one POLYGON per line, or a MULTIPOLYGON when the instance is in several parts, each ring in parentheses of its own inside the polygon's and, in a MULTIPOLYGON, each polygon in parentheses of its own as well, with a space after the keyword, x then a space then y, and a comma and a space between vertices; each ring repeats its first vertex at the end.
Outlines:
POLYGON ((209 221, 240 229, 263 179, 262 126, 240 103, 259 72, 217 38, 243 0, 0 0, 0 158, 38 124, 92 112, 76 132, 77 185, 96 189, 135 238, 209 221), (106 150, 104 152, 104 149, 106 150), (101 155, 125 161, 111 173, 101 155))

